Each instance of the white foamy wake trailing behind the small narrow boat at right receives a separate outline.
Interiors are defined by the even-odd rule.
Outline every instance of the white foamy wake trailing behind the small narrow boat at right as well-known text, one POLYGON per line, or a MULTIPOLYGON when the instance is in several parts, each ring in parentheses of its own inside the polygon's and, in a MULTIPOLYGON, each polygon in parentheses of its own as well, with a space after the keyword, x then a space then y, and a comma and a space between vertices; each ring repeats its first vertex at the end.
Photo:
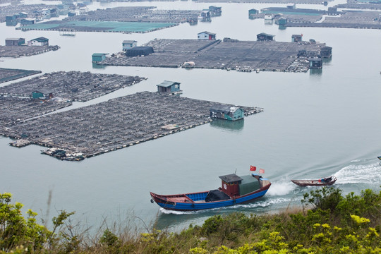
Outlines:
POLYGON ((380 163, 364 164, 364 161, 351 162, 352 164, 340 169, 334 176, 339 184, 346 183, 368 183, 380 184, 380 163))

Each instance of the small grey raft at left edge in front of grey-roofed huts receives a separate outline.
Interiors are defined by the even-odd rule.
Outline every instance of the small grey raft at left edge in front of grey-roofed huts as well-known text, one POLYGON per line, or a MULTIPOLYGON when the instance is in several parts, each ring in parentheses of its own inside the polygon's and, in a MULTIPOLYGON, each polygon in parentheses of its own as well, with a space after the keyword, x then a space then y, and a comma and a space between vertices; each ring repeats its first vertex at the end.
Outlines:
POLYGON ((0 46, 0 57, 34 56, 57 49, 58 46, 0 46))

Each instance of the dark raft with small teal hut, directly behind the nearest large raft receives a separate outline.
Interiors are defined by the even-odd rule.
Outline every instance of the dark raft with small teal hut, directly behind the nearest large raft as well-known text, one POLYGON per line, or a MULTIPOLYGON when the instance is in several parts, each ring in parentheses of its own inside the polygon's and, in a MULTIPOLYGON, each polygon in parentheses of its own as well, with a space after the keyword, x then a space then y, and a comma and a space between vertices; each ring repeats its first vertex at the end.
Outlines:
POLYGON ((59 71, 12 83, 0 87, 0 125, 42 116, 71 106, 73 101, 86 102, 143 79, 128 75, 59 71), (33 97, 34 93, 52 98, 36 98, 33 97))

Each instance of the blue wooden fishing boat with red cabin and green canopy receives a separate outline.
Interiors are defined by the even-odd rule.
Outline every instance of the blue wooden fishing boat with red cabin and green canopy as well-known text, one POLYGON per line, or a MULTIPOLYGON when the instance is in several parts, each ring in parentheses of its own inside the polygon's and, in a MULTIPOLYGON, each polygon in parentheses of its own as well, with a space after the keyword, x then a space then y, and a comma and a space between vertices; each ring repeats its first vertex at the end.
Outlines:
POLYGON ((219 178, 222 180, 222 187, 216 190, 177 195, 159 195, 151 192, 151 202, 155 201, 164 209, 176 211, 226 207, 261 198, 271 186, 269 180, 258 174, 229 174, 219 178))

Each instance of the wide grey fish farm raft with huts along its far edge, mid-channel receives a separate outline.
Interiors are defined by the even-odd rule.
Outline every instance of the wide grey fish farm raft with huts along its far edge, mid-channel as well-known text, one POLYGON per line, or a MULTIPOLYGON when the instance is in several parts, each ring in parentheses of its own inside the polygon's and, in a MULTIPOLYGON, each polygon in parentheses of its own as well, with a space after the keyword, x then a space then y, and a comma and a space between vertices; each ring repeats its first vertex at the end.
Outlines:
POLYGON ((147 44, 154 54, 114 54, 97 64, 168 68, 215 68, 236 71, 306 72, 309 58, 320 56, 325 44, 311 42, 170 40, 155 39, 147 44), (301 54, 303 52, 303 54, 301 54), (191 63, 191 65, 189 64, 191 63))

